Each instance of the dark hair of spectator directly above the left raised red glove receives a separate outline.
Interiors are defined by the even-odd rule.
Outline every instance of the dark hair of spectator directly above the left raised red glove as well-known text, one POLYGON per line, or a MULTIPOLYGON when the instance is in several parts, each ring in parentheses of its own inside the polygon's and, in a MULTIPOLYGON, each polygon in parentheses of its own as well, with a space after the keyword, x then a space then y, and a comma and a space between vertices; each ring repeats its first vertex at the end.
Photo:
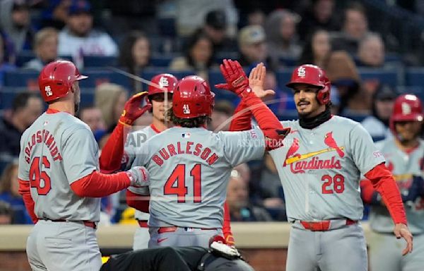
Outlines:
MULTIPOLYGON (((128 71, 130 73, 135 74, 136 67, 134 62, 134 57, 132 55, 132 47, 139 39, 146 39, 148 40, 148 37, 146 34, 139 30, 134 30, 129 32, 128 35, 124 38, 124 40, 121 43, 121 46, 119 47, 119 57, 118 57, 118 64, 119 66, 123 66, 125 68, 128 68, 128 71)), ((149 44, 150 41, 148 40, 149 44)))

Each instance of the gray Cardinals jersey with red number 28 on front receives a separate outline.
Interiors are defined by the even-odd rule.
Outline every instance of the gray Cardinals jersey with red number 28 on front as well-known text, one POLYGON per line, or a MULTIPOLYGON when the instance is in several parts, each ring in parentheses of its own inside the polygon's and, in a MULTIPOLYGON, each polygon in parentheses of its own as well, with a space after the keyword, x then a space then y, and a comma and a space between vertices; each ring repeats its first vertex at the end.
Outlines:
POLYGON ((384 162, 371 136, 355 121, 332 116, 313 129, 282 121, 291 132, 271 150, 283 185, 287 217, 327 220, 363 216, 360 174, 384 162))

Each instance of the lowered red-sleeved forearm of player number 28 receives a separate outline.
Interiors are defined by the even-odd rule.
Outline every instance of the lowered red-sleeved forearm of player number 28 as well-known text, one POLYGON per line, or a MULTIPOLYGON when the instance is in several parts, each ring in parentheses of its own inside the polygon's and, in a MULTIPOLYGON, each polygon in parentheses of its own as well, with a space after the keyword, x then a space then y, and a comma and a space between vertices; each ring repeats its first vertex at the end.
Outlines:
POLYGON ((382 196, 394 224, 406 224, 406 214, 401 193, 399 192, 399 188, 391 172, 384 163, 368 171, 365 177, 372 182, 372 186, 374 186, 375 190, 382 196))

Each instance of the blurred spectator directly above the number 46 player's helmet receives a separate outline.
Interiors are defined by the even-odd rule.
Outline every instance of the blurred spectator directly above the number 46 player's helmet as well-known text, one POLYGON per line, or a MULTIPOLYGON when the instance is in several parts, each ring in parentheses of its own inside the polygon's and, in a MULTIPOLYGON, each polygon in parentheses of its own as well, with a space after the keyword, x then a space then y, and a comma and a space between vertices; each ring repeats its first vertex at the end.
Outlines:
POLYGON ((50 62, 57 59, 58 32, 54 28, 43 28, 35 34, 35 59, 28 61, 23 68, 41 71, 50 62))

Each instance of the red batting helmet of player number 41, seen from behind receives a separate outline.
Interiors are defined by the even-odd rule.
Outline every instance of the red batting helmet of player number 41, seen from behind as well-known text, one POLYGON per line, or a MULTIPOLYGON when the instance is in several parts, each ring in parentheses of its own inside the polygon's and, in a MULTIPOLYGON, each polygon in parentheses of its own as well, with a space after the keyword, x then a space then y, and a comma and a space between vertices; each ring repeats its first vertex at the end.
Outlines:
POLYGON ((199 76, 186 76, 178 81, 172 97, 172 111, 180 119, 211 116, 215 94, 199 76))

